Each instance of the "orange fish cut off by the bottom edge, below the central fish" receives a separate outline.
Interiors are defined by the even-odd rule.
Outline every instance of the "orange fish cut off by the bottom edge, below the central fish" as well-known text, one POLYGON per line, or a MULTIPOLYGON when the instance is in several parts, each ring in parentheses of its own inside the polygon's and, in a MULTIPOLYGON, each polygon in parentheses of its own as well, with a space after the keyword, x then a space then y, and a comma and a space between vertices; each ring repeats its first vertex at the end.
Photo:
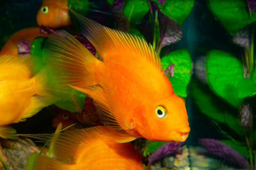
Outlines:
POLYGON ((51 145, 51 153, 55 159, 33 153, 28 158, 25 170, 145 169, 142 164, 145 158, 134 146, 131 143, 112 141, 112 133, 116 131, 95 126, 64 133, 27 135, 51 145))

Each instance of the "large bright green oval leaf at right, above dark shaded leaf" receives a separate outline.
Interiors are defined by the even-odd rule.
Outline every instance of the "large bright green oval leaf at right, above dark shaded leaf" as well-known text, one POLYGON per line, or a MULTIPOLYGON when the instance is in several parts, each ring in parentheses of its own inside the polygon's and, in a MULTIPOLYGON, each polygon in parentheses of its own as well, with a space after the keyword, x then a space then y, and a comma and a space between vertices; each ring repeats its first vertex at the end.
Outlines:
POLYGON ((239 60, 221 50, 211 50, 205 60, 206 78, 211 89, 228 103, 238 108, 243 99, 237 96, 238 82, 244 79, 239 60))

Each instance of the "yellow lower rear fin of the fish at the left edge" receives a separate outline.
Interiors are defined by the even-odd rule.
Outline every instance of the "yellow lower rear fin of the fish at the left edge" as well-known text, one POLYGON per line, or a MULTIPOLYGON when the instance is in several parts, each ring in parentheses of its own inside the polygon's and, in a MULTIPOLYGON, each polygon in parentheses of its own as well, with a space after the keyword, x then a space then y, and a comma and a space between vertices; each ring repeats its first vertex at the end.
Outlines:
POLYGON ((52 96, 32 96, 27 109, 24 111, 25 114, 23 115, 22 119, 35 115, 44 107, 53 104, 56 100, 57 98, 52 96))

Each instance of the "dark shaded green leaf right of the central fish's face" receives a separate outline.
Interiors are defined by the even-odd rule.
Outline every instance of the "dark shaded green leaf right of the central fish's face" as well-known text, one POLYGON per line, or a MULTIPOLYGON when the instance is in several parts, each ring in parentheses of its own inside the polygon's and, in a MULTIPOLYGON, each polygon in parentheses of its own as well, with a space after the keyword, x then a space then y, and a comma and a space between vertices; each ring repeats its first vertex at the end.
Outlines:
POLYGON ((239 120, 232 114, 236 113, 235 108, 227 107, 224 101, 196 79, 191 81, 191 94, 196 106, 204 115, 226 124, 230 130, 235 131, 239 136, 244 136, 244 130, 241 128, 239 120))

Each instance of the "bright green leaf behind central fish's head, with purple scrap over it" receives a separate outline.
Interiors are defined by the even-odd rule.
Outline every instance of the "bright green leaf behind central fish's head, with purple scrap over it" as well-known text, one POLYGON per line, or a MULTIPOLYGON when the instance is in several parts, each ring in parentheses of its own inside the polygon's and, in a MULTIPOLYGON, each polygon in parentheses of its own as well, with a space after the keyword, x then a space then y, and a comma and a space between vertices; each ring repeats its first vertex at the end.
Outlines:
POLYGON ((161 59, 164 70, 174 64, 174 76, 168 76, 172 83, 174 93, 178 96, 187 96, 187 86, 191 77, 191 58, 187 49, 172 51, 161 59))

